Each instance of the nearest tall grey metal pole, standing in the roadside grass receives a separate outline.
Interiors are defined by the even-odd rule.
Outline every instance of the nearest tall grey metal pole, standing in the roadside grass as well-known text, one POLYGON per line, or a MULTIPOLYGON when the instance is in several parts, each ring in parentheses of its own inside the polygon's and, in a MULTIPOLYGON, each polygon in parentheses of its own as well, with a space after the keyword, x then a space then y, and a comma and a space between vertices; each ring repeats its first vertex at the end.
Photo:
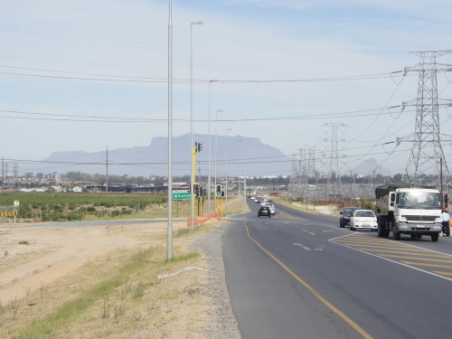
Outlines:
POLYGON ((168 16, 168 227, 166 259, 173 259, 173 6, 169 0, 168 16))

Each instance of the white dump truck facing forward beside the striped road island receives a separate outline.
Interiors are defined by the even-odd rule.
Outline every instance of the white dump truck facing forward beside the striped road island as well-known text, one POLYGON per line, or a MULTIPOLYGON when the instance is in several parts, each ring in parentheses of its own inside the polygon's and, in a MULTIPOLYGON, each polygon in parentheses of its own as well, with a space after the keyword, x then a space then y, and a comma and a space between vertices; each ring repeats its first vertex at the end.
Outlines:
POLYGON ((442 202, 438 190, 392 182, 378 186, 375 198, 379 237, 388 238, 392 231, 395 240, 410 234, 411 239, 428 235, 438 241, 442 202))

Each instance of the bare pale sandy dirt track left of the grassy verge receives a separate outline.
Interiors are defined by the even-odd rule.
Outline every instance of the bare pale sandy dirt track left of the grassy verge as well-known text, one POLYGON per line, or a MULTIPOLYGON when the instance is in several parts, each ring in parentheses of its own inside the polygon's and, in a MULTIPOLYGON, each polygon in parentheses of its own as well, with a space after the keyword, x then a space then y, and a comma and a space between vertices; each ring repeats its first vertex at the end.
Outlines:
POLYGON ((0 227, 0 305, 116 249, 149 246, 166 222, 127 226, 0 227))

